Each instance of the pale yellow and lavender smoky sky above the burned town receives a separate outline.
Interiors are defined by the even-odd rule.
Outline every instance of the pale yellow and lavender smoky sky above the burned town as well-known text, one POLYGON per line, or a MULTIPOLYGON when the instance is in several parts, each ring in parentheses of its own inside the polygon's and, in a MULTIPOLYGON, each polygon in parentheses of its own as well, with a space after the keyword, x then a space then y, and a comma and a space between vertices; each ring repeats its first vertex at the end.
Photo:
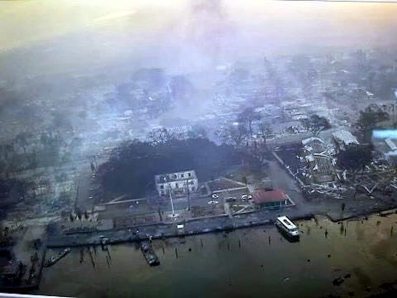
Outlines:
POLYGON ((396 32, 394 3, 0 0, 1 53, 9 60, 23 51, 15 60, 37 70, 130 60, 195 67, 330 46, 395 47, 396 32))

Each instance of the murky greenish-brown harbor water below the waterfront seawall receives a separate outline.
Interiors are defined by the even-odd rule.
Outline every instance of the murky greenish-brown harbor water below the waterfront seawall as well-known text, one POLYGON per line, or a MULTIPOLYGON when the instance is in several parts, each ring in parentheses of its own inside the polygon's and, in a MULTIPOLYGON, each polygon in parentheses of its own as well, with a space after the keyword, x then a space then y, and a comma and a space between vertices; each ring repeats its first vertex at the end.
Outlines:
POLYGON ((93 254, 95 268, 86 249, 81 264, 80 249, 74 249, 44 270, 39 292, 145 298, 347 297, 354 292, 356 297, 366 297, 381 293, 382 283, 397 279, 395 214, 343 226, 326 219, 318 224, 304 221, 299 228, 303 235, 298 243, 286 241, 273 226, 241 229, 226 237, 197 235, 183 244, 178 239, 154 241, 161 260, 158 267, 149 267, 134 244, 112 246, 110 268, 100 247, 93 254), (335 278, 347 274, 351 277, 341 285, 332 285, 335 278))

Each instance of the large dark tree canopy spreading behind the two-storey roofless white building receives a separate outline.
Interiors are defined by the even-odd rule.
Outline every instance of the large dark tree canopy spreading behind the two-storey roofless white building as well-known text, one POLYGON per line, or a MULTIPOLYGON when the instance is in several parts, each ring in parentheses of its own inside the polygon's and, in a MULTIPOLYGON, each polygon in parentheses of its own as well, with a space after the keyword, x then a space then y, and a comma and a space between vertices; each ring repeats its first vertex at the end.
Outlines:
POLYGON ((188 169, 196 170, 199 181, 221 175, 232 165, 255 164, 254 157, 208 139, 172 139, 153 145, 139 141, 123 144, 98 169, 105 192, 131 193, 141 197, 154 189, 154 176, 188 169))

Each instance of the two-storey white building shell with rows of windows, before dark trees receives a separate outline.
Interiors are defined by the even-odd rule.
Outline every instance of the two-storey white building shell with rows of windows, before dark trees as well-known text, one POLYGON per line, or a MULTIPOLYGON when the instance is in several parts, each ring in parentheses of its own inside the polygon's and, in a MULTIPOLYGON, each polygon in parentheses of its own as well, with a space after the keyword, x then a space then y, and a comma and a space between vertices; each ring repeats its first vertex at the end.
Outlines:
POLYGON ((159 174, 154 177, 156 189, 160 196, 168 195, 170 190, 175 194, 196 192, 199 188, 195 170, 159 174))

